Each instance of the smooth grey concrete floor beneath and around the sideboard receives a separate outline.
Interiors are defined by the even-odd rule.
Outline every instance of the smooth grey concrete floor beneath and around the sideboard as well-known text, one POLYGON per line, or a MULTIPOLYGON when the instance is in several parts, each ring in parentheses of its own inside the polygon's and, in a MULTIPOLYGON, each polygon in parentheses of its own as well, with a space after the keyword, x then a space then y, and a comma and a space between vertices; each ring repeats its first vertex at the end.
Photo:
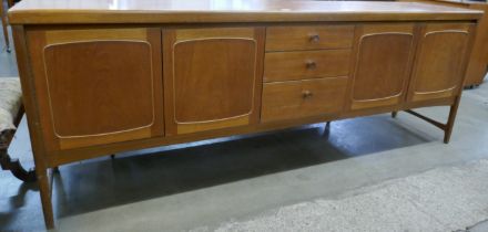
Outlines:
MULTIPOLYGON (((3 48, 3 40, 0 42, 3 48)), ((17 74, 0 54, 0 76, 17 74)), ((447 107, 420 109, 447 118, 447 107)), ((451 143, 405 113, 119 154, 60 167, 59 231, 186 231, 436 167, 488 159, 488 84, 465 91, 451 143)), ((32 167, 23 122, 10 149, 32 167)), ((472 231, 485 231, 480 222, 472 231)), ((43 231, 35 184, 0 171, 0 231, 43 231)))

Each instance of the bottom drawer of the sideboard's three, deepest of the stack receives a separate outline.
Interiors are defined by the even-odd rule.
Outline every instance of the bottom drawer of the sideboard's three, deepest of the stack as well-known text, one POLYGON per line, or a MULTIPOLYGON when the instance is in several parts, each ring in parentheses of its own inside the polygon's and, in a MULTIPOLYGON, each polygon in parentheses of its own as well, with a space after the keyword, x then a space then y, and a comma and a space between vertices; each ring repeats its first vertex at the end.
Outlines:
POLYGON ((265 83, 261 122, 339 113, 347 77, 265 83))

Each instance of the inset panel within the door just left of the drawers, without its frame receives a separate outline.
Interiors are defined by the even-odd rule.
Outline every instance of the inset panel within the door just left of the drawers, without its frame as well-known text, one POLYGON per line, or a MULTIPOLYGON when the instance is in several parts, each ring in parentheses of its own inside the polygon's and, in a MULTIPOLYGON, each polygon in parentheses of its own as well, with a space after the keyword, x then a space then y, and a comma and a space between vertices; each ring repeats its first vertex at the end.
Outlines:
POLYGON ((201 40, 176 44, 176 122, 199 123, 250 114, 254 62, 255 43, 246 40, 201 40), (227 52, 230 50, 233 52, 227 52), (212 60, 212 68, 206 63, 209 60, 212 60))

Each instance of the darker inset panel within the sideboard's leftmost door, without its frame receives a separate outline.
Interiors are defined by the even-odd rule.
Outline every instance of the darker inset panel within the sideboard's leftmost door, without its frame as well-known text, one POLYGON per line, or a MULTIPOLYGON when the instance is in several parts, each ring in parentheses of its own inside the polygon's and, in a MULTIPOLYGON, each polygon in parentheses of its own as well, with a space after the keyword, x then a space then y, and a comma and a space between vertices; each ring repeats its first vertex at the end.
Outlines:
POLYGON ((150 54, 148 43, 135 41, 91 41, 44 48, 54 134, 60 138, 83 137, 153 124, 153 93, 146 92, 152 89, 152 81, 139 78, 152 76, 151 62, 131 63, 131 60, 148 60, 150 54), (118 72, 113 72, 115 67, 118 72), (119 120, 109 120, 115 115, 119 120))

